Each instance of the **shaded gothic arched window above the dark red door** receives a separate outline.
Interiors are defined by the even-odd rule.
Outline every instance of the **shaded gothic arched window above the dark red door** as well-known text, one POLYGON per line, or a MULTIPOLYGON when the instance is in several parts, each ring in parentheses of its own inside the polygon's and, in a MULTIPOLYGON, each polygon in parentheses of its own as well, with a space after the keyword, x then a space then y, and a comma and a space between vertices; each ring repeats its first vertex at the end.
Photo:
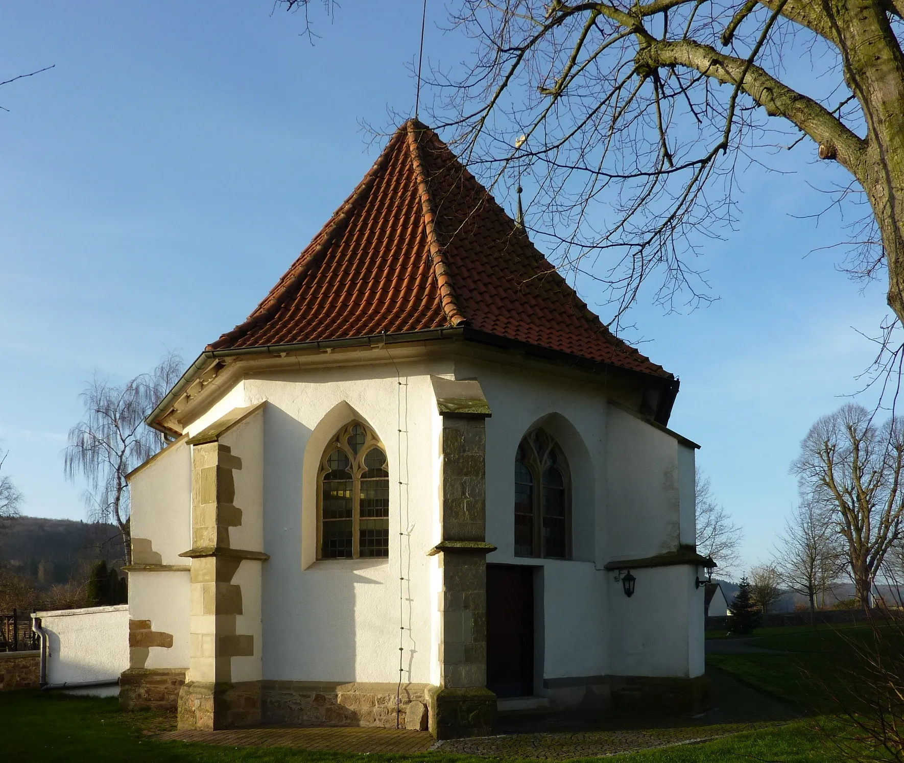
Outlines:
POLYGON ((568 461, 543 429, 527 433, 514 459, 514 554, 554 559, 571 555, 568 461))

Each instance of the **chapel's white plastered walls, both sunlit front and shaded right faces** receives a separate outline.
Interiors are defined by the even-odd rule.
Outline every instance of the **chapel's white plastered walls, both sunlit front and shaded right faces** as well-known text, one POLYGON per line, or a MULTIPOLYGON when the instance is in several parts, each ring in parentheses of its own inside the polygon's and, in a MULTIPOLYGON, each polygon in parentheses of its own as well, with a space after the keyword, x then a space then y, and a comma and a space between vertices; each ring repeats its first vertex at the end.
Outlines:
MULTIPOLYGON (((486 421, 486 537, 498 551, 487 561, 543 568, 542 677, 702 673, 696 570, 635 570, 631 599, 602 570, 612 559, 692 542, 690 447, 607 405, 597 383, 462 358, 393 364, 385 350, 371 352, 370 363, 248 376, 188 428, 197 433, 232 408, 268 401, 260 471, 260 550, 270 555, 260 592, 265 679, 394 682, 401 636, 403 680, 438 682, 440 576, 427 551, 439 537, 442 423, 431 374, 477 378, 493 411, 486 421), (389 560, 315 560, 317 465, 350 419, 371 427, 389 457, 389 560), (569 458, 573 560, 513 556, 514 452, 536 426, 569 458)), ((247 499, 236 498, 244 511, 240 501, 247 499)), ((250 536, 243 543, 258 550, 250 536)), ((241 624, 239 632, 251 628, 241 624)))

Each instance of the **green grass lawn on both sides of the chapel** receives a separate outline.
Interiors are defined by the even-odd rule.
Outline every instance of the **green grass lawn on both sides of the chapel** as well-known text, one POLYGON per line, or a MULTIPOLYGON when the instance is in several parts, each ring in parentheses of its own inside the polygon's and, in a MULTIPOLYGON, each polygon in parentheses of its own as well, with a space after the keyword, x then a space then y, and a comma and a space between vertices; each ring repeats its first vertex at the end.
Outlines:
MULTIPOLYGON (((708 635, 709 636, 709 635, 708 635)), ((833 712, 827 696, 834 666, 848 639, 870 637, 863 626, 764 628, 753 644, 777 654, 710 655, 708 663, 741 681, 794 702, 810 713, 833 712)), ((0 760, 90 763, 182 763, 182 761, 306 761, 306 763, 485 763, 488 759, 442 752, 420 755, 354 755, 287 748, 228 748, 154 739, 171 725, 152 712, 119 711, 115 698, 75 697, 59 692, 0 693, 0 760), (366 761, 365 761, 366 758, 366 761)), ((653 749, 607 758, 613 763, 716 763, 730 760, 799 763, 841 759, 826 739, 844 733, 829 717, 735 734, 709 742, 653 749), (817 730, 822 727, 822 731, 817 730), (828 733, 826 733, 828 730, 828 733)))

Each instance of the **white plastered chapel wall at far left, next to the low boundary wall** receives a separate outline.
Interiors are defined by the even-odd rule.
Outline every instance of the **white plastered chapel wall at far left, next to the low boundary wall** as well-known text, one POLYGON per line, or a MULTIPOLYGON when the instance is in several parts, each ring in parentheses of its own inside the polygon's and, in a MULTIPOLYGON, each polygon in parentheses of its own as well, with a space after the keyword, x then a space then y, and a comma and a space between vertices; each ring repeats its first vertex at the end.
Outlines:
MULTIPOLYGON (((192 453, 184 440, 166 447, 129 480, 132 537, 151 542, 159 563, 187 566, 192 547, 192 453)), ((184 668, 189 654, 189 572, 128 573, 128 617, 150 620, 173 636, 173 646, 152 646, 146 668, 184 668)))

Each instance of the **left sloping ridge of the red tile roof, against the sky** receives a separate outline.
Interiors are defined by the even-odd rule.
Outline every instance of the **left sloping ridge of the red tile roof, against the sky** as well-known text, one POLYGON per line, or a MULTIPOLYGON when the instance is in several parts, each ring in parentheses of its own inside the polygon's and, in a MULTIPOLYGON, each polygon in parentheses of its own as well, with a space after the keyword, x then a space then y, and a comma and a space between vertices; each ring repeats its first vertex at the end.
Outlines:
MULTIPOLYGON (((273 287, 267 297, 264 297, 259 305, 251 311, 250 316, 248 316, 244 322, 237 325, 231 331, 222 334, 219 339, 208 344, 205 349, 218 350, 224 345, 231 344, 232 342, 239 340, 245 334, 249 334, 252 329, 266 323, 270 318, 276 316, 279 309, 283 306, 284 301, 292 295, 294 287, 297 287, 297 285, 301 283, 305 278, 307 271, 311 269, 315 261, 329 249, 330 245, 336 240, 336 237, 345 230, 345 226, 352 218, 352 212, 354 212, 358 203, 363 199, 367 192, 370 191, 374 181, 376 181, 377 177, 389 163, 391 148, 393 147, 395 139, 399 137, 400 132, 400 129, 396 131, 396 134, 392 137, 393 139, 386 145, 381 155, 377 157, 377 161, 373 163, 371 169, 363 176, 361 183, 359 183, 349 197, 339 205, 339 209, 333 212, 333 217, 331 217, 326 225, 320 230, 318 235, 321 238, 317 242, 315 248, 307 254, 305 259, 302 259, 300 262, 296 260, 297 269, 295 273, 289 275, 296 266, 296 263, 293 263, 292 268, 289 268, 289 271, 283 278, 279 279, 277 285, 273 287)), ((302 254, 304 254, 304 252, 302 252, 302 254)))

